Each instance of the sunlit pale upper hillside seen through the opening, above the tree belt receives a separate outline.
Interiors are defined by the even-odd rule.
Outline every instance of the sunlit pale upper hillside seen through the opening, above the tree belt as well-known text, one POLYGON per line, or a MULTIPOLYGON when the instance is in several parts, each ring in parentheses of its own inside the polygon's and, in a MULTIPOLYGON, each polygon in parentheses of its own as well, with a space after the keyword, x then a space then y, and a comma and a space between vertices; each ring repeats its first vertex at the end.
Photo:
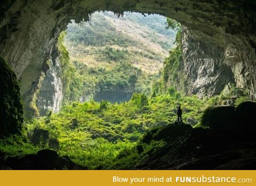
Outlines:
POLYGON ((155 74, 161 71, 164 58, 174 46, 175 32, 165 30, 164 23, 165 18, 159 15, 144 18, 139 13, 125 13, 117 18, 110 12, 95 12, 90 23, 69 24, 65 44, 71 61, 111 69, 117 61, 106 59, 104 53, 106 47, 111 47, 114 52, 127 53, 128 57, 121 56, 118 62, 155 74))

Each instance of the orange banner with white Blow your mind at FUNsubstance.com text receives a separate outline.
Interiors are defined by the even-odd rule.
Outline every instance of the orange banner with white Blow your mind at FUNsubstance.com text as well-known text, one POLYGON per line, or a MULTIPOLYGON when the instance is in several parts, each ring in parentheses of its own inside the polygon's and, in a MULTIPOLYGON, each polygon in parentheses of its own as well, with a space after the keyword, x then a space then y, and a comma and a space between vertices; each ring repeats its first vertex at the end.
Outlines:
POLYGON ((1 185, 255 186, 256 171, 0 171, 1 185))

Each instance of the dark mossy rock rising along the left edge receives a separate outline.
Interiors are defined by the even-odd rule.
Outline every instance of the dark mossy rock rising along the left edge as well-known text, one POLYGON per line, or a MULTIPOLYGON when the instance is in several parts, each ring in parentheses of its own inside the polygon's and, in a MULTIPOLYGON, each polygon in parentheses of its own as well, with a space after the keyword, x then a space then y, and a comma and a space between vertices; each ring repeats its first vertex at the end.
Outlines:
POLYGON ((0 57, 0 136, 20 133, 23 110, 15 73, 0 57))

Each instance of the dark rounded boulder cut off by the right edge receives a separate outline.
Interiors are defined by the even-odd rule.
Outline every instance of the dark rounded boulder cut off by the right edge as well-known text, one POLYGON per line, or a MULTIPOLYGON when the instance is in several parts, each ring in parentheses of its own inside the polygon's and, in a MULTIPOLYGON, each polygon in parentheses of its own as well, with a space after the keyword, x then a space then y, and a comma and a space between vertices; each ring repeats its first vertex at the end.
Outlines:
POLYGON ((239 128, 245 130, 256 130, 255 115, 256 103, 243 102, 236 107, 236 117, 239 128))

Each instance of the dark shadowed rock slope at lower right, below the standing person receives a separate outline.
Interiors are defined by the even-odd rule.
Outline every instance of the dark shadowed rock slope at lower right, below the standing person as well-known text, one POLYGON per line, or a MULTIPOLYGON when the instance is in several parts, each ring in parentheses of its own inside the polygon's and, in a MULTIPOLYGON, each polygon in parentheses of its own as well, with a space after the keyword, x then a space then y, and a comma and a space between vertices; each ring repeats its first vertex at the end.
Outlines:
MULTIPOLYGON (((170 124, 168 130, 176 131, 177 127, 170 124)), ((136 169, 255 170, 256 139, 252 131, 195 128, 177 137, 158 136, 158 140, 166 145, 148 151, 136 169)))

